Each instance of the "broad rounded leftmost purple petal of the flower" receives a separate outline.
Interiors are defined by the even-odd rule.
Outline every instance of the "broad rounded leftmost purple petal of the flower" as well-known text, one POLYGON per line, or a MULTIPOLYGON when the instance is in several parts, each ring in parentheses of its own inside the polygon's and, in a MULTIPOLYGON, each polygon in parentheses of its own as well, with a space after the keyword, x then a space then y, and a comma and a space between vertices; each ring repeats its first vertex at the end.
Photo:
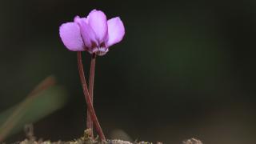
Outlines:
POLYGON ((83 51, 84 43, 77 23, 67 22, 59 27, 59 35, 67 49, 72 51, 83 51))

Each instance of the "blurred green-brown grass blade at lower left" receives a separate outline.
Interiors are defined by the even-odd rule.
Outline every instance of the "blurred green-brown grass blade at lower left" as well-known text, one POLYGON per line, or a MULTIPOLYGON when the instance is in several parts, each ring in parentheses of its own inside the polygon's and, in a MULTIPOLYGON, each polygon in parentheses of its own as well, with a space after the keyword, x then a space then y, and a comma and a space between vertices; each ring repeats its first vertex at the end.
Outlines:
POLYGON ((0 142, 65 105, 66 90, 53 84, 53 78, 46 78, 23 102, 0 114, 0 142))

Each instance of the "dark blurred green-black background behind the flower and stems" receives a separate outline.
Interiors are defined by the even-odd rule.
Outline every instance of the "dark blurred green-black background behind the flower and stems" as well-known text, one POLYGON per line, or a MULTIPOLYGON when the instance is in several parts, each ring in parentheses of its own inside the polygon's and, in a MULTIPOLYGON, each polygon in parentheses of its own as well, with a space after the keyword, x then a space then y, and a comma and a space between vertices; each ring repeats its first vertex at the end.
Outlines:
MULTIPOLYGON (((34 122, 34 134, 53 141, 83 134, 76 53, 58 27, 93 9, 126 27, 123 41, 97 58, 94 106, 107 138, 122 130, 131 140, 167 144, 256 143, 254 0, 1 0, 0 113, 54 75, 69 100, 34 122)), ((83 58, 87 76, 90 54, 83 58)), ((6 142, 24 138, 21 130, 6 142)))

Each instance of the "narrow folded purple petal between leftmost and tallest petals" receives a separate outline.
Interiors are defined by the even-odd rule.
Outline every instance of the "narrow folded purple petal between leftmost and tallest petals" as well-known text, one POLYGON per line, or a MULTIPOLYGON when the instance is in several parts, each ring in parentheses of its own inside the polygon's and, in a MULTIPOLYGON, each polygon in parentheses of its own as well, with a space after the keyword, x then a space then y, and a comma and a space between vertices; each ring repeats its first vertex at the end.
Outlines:
POLYGON ((88 25, 86 18, 79 18, 78 16, 74 18, 74 22, 77 22, 81 28, 81 34, 83 42, 85 42, 86 47, 91 48, 95 43, 97 43, 94 30, 88 25))

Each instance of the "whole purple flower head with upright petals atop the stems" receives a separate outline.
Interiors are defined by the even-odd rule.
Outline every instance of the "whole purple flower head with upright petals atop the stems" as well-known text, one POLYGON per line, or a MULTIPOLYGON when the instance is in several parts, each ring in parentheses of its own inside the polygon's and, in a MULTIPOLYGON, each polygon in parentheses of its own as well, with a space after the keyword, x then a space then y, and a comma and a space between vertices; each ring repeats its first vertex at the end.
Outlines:
POLYGON ((92 10, 86 18, 76 16, 74 22, 63 23, 59 34, 69 50, 104 55, 122 40, 125 28, 119 17, 107 20, 101 10, 92 10))

